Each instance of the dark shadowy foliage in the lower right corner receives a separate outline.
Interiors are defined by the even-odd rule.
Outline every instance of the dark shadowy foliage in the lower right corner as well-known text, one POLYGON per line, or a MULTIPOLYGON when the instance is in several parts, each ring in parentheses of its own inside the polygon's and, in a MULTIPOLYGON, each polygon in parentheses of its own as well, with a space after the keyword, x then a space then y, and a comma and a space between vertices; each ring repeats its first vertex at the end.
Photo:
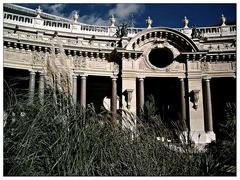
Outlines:
POLYGON ((220 122, 216 142, 207 147, 203 158, 204 175, 236 176, 236 105, 227 103, 225 121, 220 122))

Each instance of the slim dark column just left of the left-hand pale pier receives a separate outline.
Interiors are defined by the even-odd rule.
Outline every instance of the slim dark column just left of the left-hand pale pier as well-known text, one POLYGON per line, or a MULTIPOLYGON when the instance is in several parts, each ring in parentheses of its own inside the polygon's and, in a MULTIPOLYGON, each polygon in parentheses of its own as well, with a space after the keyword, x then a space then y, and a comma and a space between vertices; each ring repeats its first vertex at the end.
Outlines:
POLYGON ((112 78, 112 100, 111 100, 112 118, 117 120, 117 78, 112 78))

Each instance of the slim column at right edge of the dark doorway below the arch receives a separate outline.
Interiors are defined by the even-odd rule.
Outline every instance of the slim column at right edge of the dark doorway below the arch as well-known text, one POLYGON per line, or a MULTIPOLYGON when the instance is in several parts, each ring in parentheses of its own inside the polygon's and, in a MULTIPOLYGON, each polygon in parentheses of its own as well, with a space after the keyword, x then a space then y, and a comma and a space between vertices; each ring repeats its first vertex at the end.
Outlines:
POLYGON ((179 78, 180 83, 180 113, 181 113, 181 124, 183 125, 183 130, 187 130, 186 125, 186 100, 185 100, 185 84, 184 79, 179 78))

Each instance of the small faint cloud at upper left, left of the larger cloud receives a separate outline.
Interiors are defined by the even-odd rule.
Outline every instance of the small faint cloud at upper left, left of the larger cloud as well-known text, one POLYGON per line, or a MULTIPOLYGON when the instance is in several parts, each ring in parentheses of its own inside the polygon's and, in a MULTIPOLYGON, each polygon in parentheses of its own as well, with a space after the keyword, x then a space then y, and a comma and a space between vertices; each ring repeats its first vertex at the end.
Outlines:
POLYGON ((66 4, 53 4, 53 5, 42 4, 41 6, 43 8, 43 11, 47 10, 49 14, 65 17, 64 8, 66 4))

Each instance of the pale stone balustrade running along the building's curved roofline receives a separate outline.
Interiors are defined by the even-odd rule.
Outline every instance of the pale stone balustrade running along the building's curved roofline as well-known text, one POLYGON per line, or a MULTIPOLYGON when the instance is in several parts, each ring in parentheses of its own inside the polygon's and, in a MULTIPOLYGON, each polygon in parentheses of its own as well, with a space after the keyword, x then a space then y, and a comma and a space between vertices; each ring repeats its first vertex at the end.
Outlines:
MULTIPOLYGON (((113 36, 115 32, 111 31, 111 29, 117 28, 111 26, 86 25, 70 21, 69 22, 54 21, 38 17, 18 15, 9 12, 4 12, 4 23, 11 23, 28 27, 37 27, 46 30, 106 36, 113 36)), ((128 28, 128 37, 134 37, 137 33, 145 29, 146 28, 128 28)), ((191 37, 192 28, 175 28, 175 29, 191 37)), ((236 35, 237 31, 236 25, 198 27, 196 29, 201 32, 202 37, 222 37, 236 35)))

